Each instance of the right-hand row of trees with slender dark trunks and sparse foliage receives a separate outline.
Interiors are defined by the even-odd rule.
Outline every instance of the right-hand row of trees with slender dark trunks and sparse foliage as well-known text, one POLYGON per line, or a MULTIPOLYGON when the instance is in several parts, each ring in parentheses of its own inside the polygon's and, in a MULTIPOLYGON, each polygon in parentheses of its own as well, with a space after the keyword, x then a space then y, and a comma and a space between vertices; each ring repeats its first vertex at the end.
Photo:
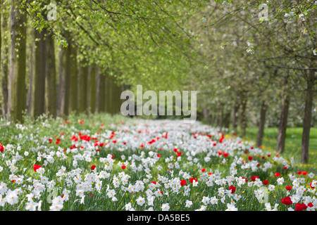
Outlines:
POLYGON ((267 115, 275 114, 276 151, 282 153, 292 113, 293 120, 301 120, 302 163, 307 163, 317 81, 316 3, 222 2, 209 5, 213 10, 206 7, 203 15, 197 12, 200 21, 192 25, 198 28, 195 74, 205 120, 229 127, 232 118, 232 129, 239 125, 245 136, 255 118, 261 146, 267 115))

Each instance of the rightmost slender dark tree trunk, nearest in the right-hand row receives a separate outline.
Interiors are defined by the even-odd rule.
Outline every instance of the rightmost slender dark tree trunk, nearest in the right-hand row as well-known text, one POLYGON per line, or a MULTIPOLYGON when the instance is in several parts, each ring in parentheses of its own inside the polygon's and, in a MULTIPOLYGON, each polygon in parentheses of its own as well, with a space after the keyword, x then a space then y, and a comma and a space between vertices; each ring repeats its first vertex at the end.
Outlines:
POLYGON ((309 76, 307 78, 302 134, 302 163, 309 162, 309 133, 311 130, 311 111, 313 109, 313 86, 315 82, 315 70, 310 70, 309 76))

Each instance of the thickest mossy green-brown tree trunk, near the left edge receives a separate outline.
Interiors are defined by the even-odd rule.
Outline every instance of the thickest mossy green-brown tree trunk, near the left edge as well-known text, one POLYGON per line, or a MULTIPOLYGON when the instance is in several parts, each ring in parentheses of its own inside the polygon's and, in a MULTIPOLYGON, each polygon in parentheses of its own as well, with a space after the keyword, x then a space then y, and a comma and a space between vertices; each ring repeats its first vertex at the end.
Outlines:
POLYGON ((8 119, 23 122, 26 109, 25 51, 27 16, 20 1, 11 0, 11 49, 8 79, 8 119), (21 11, 20 11, 21 10, 21 11))

